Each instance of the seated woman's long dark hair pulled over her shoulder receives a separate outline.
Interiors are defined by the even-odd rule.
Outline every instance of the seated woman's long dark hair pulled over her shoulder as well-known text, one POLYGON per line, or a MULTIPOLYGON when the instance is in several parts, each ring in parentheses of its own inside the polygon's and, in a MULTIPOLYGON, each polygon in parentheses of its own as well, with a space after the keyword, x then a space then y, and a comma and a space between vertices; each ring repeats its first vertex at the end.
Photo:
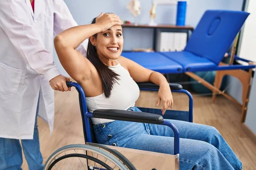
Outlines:
MULTIPOLYGON (((92 24, 96 23, 96 18, 93 19, 92 24)), ((97 34, 94 34, 93 37, 97 37, 97 34)), ((105 97, 108 98, 111 95, 111 90, 113 88, 114 83, 118 80, 118 74, 116 74, 113 70, 108 68, 108 65, 105 65, 97 54, 97 49, 90 40, 88 41, 87 46, 87 59, 94 65, 96 70, 99 73, 99 77, 102 82, 102 89, 105 94, 105 97)))

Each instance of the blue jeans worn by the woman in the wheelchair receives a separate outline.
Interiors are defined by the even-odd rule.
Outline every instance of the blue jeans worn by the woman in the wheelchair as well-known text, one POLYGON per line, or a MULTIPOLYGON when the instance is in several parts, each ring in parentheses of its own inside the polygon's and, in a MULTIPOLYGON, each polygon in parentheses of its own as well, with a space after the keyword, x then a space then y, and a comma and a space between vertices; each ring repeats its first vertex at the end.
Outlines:
MULTIPOLYGON (((140 111, 136 107, 128 110, 140 111)), ((215 127, 169 121, 180 134, 180 170, 242 169, 241 161, 215 127)), ((168 126, 118 120, 104 125, 93 126, 100 144, 174 154, 174 133, 168 126)))

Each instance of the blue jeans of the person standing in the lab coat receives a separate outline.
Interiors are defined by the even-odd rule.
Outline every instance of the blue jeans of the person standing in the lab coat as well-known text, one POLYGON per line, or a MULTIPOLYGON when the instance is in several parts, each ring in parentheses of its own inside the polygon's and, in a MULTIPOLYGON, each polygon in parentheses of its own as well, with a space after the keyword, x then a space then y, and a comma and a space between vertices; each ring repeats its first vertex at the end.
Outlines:
MULTIPOLYGON (((39 100, 38 100, 39 102, 39 100)), ((40 152, 37 125, 38 107, 35 116, 33 139, 22 139, 23 153, 29 170, 43 170, 43 157, 40 152)), ((22 150, 18 139, 0 138, 0 170, 22 170, 22 150)))

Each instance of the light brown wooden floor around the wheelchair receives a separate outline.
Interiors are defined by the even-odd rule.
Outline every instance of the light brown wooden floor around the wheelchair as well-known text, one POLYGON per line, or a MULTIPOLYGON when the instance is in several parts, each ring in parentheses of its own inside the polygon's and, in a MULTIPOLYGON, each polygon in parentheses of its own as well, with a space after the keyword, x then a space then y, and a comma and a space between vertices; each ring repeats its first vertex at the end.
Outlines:
MULTIPOLYGON (((188 98, 173 94, 174 108, 188 110, 188 98)), ((256 170, 256 144, 247 136, 240 123, 241 108, 217 96, 212 103, 211 96, 193 95, 194 122, 216 127, 243 163, 244 170, 256 170)), ((141 91, 136 105, 152 108, 157 102, 157 92, 141 91)), ((160 107, 160 106, 159 106, 160 107)), ((84 144, 78 93, 75 88, 69 92, 55 91, 54 131, 49 136, 48 125, 38 118, 41 152, 44 162, 58 148, 67 144, 84 144)), ((23 156, 23 170, 28 170, 23 156)))

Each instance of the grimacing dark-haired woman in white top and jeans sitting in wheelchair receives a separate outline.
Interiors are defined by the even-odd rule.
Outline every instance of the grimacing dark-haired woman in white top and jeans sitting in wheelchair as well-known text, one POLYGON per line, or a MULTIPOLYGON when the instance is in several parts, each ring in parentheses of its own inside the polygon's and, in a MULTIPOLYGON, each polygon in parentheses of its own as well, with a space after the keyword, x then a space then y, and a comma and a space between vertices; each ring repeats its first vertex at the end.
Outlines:
MULTIPOLYGON (((135 102, 140 91, 136 82, 160 85, 157 104, 163 114, 172 108, 169 84, 162 74, 120 56, 123 47, 122 21, 115 14, 100 14, 92 24, 76 26, 55 37, 55 49, 67 73, 86 94, 90 112, 96 109, 140 111, 135 102), (76 47, 89 38, 87 58, 76 47)), ((100 144, 173 154, 174 134, 164 125, 92 119, 100 144)), ((180 132, 180 169, 240 170, 241 161, 220 135, 207 125, 170 120, 180 132)))

